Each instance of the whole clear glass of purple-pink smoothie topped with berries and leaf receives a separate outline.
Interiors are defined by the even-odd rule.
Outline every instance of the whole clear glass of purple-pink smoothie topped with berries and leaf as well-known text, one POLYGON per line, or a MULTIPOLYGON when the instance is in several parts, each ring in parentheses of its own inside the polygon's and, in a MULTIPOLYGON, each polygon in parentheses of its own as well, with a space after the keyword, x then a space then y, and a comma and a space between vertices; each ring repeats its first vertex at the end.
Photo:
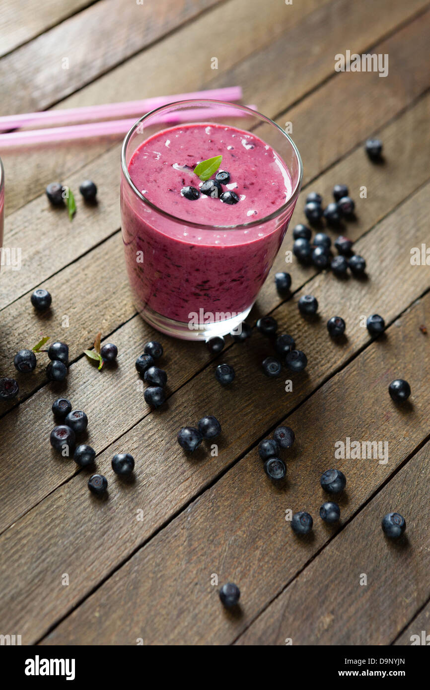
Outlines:
POLYGON ((294 210, 302 166, 291 139, 248 108, 182 101, 137 123, 121 168, 126 266, 141 315, 185 339, 232 331, 251 310, 294 210), (237 126, 243 120, 258 135, 237 126), (279 137, 284 157, 260 130, 279 137))

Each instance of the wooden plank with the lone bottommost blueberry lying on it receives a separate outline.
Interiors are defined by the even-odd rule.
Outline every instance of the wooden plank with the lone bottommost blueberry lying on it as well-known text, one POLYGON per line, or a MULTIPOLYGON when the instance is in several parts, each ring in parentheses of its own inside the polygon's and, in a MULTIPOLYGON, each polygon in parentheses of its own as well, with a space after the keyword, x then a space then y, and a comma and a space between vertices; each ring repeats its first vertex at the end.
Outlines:
MULTIPOLYGON (((145 644, 233 642, 268 602, 280 593, 286 582, 333 537, 335 528, 327 528, 317 517, 317 511, 326 500, 319 486, 320 475, 333 466, 335 442, 344 440, 346 436, 360 440, 389 440, 387 464, 379 464, 378 460, 336 461, 348 480, 346 494, 340 500, 342 520, 345 521, 364 501, 369 500, 428 434, 430 395, 426 380, 430 374, 430 359, 426 358, 427 339, 419 334, 418 326, 429 317, 430 295, 427 295, 389 328, 387 342, 371 344, 288 417, 295 429, 296 445, 289 455, 289 481, 284 489, 278 489, 268 482, 256 449, 253 449, 215 486, 137 551, 63 620, 43 643, 135 644, 138 637, 144 638, 145 644), (401 362, 399 352, 402 353, 401 362), (420 371, 416 368, 417 359, 421 363, 420 371), (412 404, 407 409, 396 408, 387 392, 389 381, 399 372, 400 364, 402 375, 411 381, 413 389, 412 404), (360 415, 357 414, 358 410, 360 415), (379 414, 375 411, 379 411, 379 414), (313 514, 315 528, 311 538, 295 538, 285 520, 286 509, 307 509, 313 514), (229 615, 222 609, 217 587, 211 584, 214 573, 219 578, 219 584, 233 581, 240 586, 240 615, 229 615), (124 620, 127 620, 126 629, 124 620)), ((255 415, 255 407, 253 413, 255 415)), ((428 569, 429 553, 423 553, 423 547, 427 539, 424 526, 427 524, 429 505, 424 492, 416 491, 416 487, 418 482, 425 482, 429 476, 429 453, 430 446, 427 446, 411 464, 411 469, 407 466, 372 502, 375 508, 370 504, 362 513, 364 517, 355 517, 351 525, 300 575, 299 581, 303 579, 309 586, 304 587, 300 602, 295 602, 291 615, 288 613, 289 625, 281 627, 279 638, 293 637, 294 644, 309 643, 315 635, 311 623, 315 625, 318 622, 323 632, 325 629, 326 638, 331 639, 331 630, 341 633, 344 627, 345 635, 341 643, 351 642, 351 628, 356 627, 359 615, 356 604, 360 593, 358 578, 362 572, 367 572, 369 576, 369 588, 362 588, 367 590, 366 593, 362 592, 362 598, 371 597, 371 600, 360 602, 366 611, 366 617, 360 619, 361 630, 357 633, 360 642, 363 638, 367 644, 380 640, 387 629, 395 629, 398 622, 394 620, 396 615, 399 618, 407 615, 428 596, 429 583, 424 573, 426 566, 428 569), (383 511, 392 508, 406 515, 409 549, 395 549, 386 544, 379 521, 375 521, 375 514, 380 516, 383 511), (363 548, 363 544, 369 546, 363 548), (351 572, 352 579, 349 576, 351 572), (402 575, 407 577, 403 578, 402 575), (383 591, 383 582, 386 589, 379 603, 378 595, 383 591), (404 604, 403 593, 405 598, 410 599, 404 604), (352 597, 351 604, 349 597, 352 597), (391 609, 386 605, 387 598, 391 597, 398 603, 397 614, 395 607, 391 609), (303 613, 304 601, 306 615, 303 613), (354 610, 351 612, 351 609, 354 610), (386 616, 385 627, 373 624, 372 615, 379 623, 379 616, 386 616), (309 624, 306 619, 309 619, 309 624), (301 627, 306 635, 302 635, 301 627)), ((119 500, 119 493, 115 491, 115 503, 119 500)), ((139 505, 143 503, 133 502, 135 509, 139 505)), ((57 499, 57 504, 51 505, 50 511, 57 514, 58 510, 57 499)), ((47 525, 48 511, 48 505, 45 505, 43 514, 39 515, 47 525)), ((75 513, 75 510, 71 509, 71 512, 75 513)), ((100 513, 104 513, 102 509, 93 513, 91 522, 97 521, 96 534, 101 524, 106 530, 108 516, 100 517, 100 513)), ((131 506, 124 514, 128 516, 128 526, 132 530, 131 506)), ((62 524, 65 517, 61 514, 58 524, 62 524)), ((117 529, 118 520, 119 511, 115 519, 112 518, 112 530, 114 524, 117 529)), ((21 532, 24 543, 27 530, 21 532)), ((30 530, 34 533, 34 523, 30 530)), ((47 533, 47 529, 43 533, 47 533)), ((57 542, 58 535, 56 537, 57 542)), ((111 539, 105 531, 104 548, 111 539)), ((6 554, 9 564, 16 558, 12 546, 17 548, 19 543, 17 536, 10 538, 6 554)), ((73 556, 76 556, 76 549, 73 556)), ((92 556, 95 557, 94 551, 92 556)), ((34 583, 34 578, 41 578, 34 550, 32 558, 34 583)), ((64 544, 61 558, 61 565, 55 558, 52 574, 43 571, 52 599, 56 597, 54 580, 65 560, 72 569, 73 578, 79 577, 77 562, 72 562, 64 544)), ((99 560, 97 563, 100 564, 99 560)), ((17 582, 13 575, 10 580, 17 582)), ((6 587, 6 599, 10 596, 8 589, 9 586, 6 587)), ((57 607, 60 596, 62 601, 64 596, 72 595, 72 588, 67 589, 66 594, 58 593, 57 607)), ((3 586, 3 596, 4 591, 3 586)), ((39 591, 39 586, 35 585, 34 591, 39 591)), ((15 601, 19 598, 17 608, 20 609, 20 593, 15 592, 14 597, 15 601)), ((28 599, 26 595, 23 602, 25 611, 20 612, 18 619, 27 629, 27 621, 36 618, 32 612, 32 607, 36 607, 33 603, 35 598, 30 602, 28 599)), ((39 596, 39 602, 42 600, 44 598, 39 596)), ((55 606, 52 601, 47 605, 55 606)), ((38 616, 43 618, 40 604, 37 610, 38 616)), ((288 607, 286 610, 289 611, 288 607)), ((10 623, 10 629, 16 626, 17 622, 14 626, 10 623)), ((360 628, 359 625, 357 627, 360 628)), ((27 634, 31 639, 30 631, 27 634)), ((259 641, 262 643, 262 638, 259 641)))

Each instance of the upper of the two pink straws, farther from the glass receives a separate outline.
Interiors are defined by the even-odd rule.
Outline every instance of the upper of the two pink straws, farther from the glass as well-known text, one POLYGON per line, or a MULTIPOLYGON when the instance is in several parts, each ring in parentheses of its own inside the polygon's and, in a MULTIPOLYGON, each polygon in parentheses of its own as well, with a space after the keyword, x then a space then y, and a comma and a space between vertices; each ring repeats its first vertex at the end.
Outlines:
POLYGON ((4 115, 0 117, 0 131, 4 132, 17 127, 37 127, 58 122, 82 122, 85 120, 101 120, 108 117, 140 117, 145 112, 166 106, 175 101, 188 101, 199 98, 214 99, 215 101, 240 101, 242 88, 228 86, 226 88, 196 91, 195 93, 179 93, 175 96, 157 96, 142 101, 126 101, 124 103, 105 103, 101 106, 84 106, 84 108, 65 108, 63 110, 43 110, 43 112, 24 112, 21 115, 4 115))

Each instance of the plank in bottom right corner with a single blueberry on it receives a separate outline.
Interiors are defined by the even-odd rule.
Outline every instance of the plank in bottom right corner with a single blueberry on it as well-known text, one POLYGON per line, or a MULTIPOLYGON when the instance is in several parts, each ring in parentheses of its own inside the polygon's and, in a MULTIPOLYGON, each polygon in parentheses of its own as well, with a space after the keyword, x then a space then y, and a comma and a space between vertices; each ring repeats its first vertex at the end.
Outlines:
MULTIPOLYGON (((391 428, 387 432, 391 443, 391 428)), ((285 644, 286 638, 293 644, 389 644, 430 595, 430 509, 420 490, 430 479, 429 461, 427 443, 237 644, 285 644), (391 511, 407 522, 399 543, 382 533, 382 517, 391 511)))

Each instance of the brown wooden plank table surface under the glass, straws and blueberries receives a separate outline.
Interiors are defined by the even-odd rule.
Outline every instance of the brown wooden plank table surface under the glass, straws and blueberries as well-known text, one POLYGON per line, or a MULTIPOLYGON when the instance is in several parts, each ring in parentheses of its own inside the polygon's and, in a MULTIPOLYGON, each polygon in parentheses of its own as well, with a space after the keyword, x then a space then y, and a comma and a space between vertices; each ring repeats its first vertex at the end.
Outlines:
POLYGON ((244 103, 292 123, 304 162, 293 225, 306 193, 328 201, 334 184, 349 186, 357 219, 345 232, 368 277, 286 265, 287 234, 249 319, 272 314, 306 352, 309 366, 286 392, 287 373, 268 380, 260 370, 262 335, 211 357, 137 315, 119 229, 119 140, 0 151, 4 246, 22 250, 21 270, 1 271, 1 375, 16 375, 14 353, 41 334, 68 342, 71 360, 66 384, 53 386, 40 356, 35 373, 17 375, 19 400, 1 407, 0 632, 23 644, 411 644, 430 615, 430 336, 420 328, 430 326, 430 268, 411 264, 411 249, 429 241, 429 0, 30 4, 3 2, 2 115, 239 84, 244 103), (335 72, 346 50, 388 54, 388 77, 335 72), (371 135, 384 164, 364 152, 371 135), (87 178, 97 208, 77 199, 72 222, 50 208, 46 184, 77 192, 87 178), (291 273, 291 299, 277 294, 276 270, 291 273), (48 315, 30 305, 36 286, 52 294, 48 315), (320 319, 300 316, 302 294, 317 297, 320 319), (372 341, 363 317, 375 312, 387 333, 372 341), (347 324, 340 344, 325 327, 335 314, 347 324), (117 367, 101 373, 83 355, 97 331, 119 349, 117 367), (168 402, 154 412, 135 371, 153 337, 169 376, 168 402), (213 374, 222 361, 236 370, 225 390, 213 374), (411 384, 404 406, 388 395, 396 377, 411 384), (50 448, 59 393, 88 414, 107 500, 50 448), (219 453, 190 459, 177 428, 204 413, 222 422, 219 453), (281 422, 296 442, 279 489, 257 445, 281 422), (388 462, 335 459, 347 437, 387 442, 388 462), (135 482, 113 475, 119 451, 135 456, 135 482), (318 515, 320 475, 332 466, 348 482, 335 527, 318 515), (294 537, 289 509, 313 515, 312 535, 294 537), (407 520, 398 544, 381 530, 389 511, 407 520), (240 586, 239 612, 223 609, 217 579, 240 586))

